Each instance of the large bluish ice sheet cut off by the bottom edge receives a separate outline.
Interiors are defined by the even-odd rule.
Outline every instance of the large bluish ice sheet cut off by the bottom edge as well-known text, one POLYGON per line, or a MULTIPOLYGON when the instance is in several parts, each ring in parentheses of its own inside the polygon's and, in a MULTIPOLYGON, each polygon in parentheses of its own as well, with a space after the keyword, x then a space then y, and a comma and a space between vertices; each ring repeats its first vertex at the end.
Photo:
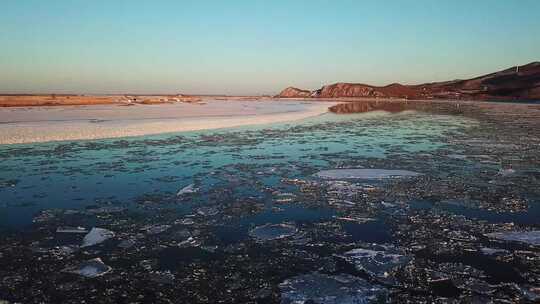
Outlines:
POLYGON ((387 291, 348 274, 311 273, 279 284, 282 304, 363 304, 384 301, 387 291))

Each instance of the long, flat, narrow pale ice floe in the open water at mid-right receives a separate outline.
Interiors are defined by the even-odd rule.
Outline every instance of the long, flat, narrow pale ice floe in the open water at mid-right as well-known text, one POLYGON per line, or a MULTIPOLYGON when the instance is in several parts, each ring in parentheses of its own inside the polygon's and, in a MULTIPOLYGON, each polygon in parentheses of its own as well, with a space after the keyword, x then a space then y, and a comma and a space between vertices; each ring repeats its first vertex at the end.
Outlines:
POLYGON ((324 179, 387 179, 416 177, 422 173, 408 170, 386 170, 386 169, 332 169, 323 170, 315 176, 324 179))

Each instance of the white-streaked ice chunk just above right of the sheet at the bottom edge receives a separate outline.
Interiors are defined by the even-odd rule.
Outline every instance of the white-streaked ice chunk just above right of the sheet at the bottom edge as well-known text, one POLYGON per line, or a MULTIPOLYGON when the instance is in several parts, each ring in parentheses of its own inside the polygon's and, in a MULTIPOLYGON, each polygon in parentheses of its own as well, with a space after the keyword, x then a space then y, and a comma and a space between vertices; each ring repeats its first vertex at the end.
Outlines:
POLYGON ((391 276, 392 271, 412 260, 411 256, 401 253, 393 246, 356 248, 345 252, 341 257, 353 264, 356 269, 385 281, 391 276))

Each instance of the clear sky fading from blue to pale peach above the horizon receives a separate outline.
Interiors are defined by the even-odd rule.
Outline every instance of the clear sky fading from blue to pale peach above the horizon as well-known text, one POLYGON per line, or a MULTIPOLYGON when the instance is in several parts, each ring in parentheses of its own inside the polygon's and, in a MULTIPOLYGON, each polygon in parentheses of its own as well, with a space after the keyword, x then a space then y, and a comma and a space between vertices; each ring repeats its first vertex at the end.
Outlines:
POLYGON ((538 0, 1 0, 0 92, 277 93, 540 60, 538 0))

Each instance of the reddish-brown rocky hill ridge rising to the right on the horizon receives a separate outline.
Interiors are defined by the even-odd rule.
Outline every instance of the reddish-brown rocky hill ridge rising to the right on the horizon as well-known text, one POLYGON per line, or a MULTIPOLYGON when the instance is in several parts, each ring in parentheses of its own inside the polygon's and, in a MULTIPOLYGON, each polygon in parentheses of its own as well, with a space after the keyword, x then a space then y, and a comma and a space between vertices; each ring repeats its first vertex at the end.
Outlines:
POLYGON ((314 91, 286 88, 279 98, 406 98, 406 99, 539 99, 540 62, 512 67, 466 80, 419 85, 393 83, 372 86, 361 83, 335 83, 314 91))

